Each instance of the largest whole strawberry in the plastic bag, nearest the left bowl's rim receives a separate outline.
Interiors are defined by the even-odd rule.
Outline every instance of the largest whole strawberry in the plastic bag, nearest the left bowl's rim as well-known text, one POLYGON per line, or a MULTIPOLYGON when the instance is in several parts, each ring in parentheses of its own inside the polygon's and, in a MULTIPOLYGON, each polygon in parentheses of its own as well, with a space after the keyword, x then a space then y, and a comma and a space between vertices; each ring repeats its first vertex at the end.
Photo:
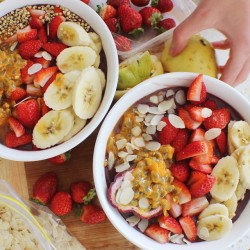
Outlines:
POLYGON ((142 16, 139 12, 128 5, 121 5, 118 8, 121 29, 123 32, 131 35, 139 35, 143 33, 142 16))

